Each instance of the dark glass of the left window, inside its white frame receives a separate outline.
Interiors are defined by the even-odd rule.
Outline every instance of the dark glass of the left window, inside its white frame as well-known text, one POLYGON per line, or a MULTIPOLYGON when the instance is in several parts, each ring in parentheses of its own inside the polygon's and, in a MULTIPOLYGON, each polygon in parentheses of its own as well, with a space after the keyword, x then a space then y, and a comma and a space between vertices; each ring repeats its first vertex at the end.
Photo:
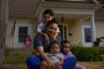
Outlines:
POLYGON ((28 34, 28 27, 18 27, 18 42, 24 42, 28 34))

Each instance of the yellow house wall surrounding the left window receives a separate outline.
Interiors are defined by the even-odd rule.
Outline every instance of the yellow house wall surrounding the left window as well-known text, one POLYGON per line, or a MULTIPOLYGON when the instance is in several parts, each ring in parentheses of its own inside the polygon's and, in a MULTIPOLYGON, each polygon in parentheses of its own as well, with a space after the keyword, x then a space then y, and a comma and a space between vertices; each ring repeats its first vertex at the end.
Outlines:
MULTIPOLYGON (((14 25, 14 20, 15 18, 9 18, 9 23, 8 23, 8 30, 6 30, 6 40, 5 40, 5 44, 6 47, 13 49, 14 47, 14 34, 11 36, 12 29, 13 29, 13 25, 14 25)), ((34 18, 25 18, 25 17, 16 17, 16 24, 18 24, 18 22, 28 22, 28 24, 31 24, 32 26, 32 34, 31 34, 31 39, 34 40, 35 33, 36 33, 36 25, 37 25, 37 20, 34 18)), ((22 23, 22 24, 24 24, 22 23)), ((15 32, 15 31, 14 31, 15 32)))

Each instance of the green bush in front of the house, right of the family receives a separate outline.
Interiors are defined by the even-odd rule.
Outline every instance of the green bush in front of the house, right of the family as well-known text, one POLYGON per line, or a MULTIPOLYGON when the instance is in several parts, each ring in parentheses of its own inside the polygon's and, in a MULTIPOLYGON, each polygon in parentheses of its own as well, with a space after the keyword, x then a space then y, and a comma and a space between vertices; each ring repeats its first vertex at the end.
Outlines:
POLYGON ((72 46, 72 52, 75 54, 80 61, 99 61, 101 55, 104 55, 104 46, 102 47, 83 47, 83 46, 72 46))

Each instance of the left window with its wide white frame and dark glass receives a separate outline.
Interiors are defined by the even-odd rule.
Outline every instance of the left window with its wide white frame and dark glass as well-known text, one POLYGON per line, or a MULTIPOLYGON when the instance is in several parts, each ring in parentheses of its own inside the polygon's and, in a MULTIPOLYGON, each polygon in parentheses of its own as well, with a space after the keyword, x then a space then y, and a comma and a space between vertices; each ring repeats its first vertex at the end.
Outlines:
POLYGON ((31 24, 27 20, 17 20, 15 25, 15 33, 14 33, 14 47, 24 49, 26 47, 24 44, 24 40, 26 36, 32 36, 31 24))

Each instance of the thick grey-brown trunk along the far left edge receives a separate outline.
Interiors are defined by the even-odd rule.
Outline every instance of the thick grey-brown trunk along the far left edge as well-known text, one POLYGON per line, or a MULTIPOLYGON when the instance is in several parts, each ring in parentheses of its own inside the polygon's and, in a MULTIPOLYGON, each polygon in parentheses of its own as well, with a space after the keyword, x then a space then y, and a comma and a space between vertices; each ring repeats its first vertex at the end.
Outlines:
MULTIPOLYGON (((6 23, 9 16, 9 0, 0 0, 0 67, 4 63, 4 47, 5 47, 5 36, 6 36, 6 23)), ((2 69, 2 68, 1 68, 2 69)))

